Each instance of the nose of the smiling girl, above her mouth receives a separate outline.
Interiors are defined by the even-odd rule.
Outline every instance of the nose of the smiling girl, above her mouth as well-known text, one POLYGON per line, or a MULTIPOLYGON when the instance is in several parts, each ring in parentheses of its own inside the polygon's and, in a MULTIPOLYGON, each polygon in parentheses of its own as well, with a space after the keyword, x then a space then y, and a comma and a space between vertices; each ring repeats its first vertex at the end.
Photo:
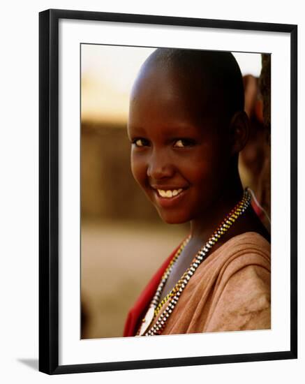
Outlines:
POLYGON ((174 165, 166 151, 154 149, 149 158, 147 176, 154 180, 170 178, 174 175, 174 165))

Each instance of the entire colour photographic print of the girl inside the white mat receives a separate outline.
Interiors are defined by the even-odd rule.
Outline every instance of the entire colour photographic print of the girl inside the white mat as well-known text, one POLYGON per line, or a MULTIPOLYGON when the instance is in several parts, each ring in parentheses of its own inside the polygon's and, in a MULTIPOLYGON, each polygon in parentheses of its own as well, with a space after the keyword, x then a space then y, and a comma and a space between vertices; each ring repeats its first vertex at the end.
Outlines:
POLYGON ((271 327, 270 70, 81 45, 82 338, 271 327))

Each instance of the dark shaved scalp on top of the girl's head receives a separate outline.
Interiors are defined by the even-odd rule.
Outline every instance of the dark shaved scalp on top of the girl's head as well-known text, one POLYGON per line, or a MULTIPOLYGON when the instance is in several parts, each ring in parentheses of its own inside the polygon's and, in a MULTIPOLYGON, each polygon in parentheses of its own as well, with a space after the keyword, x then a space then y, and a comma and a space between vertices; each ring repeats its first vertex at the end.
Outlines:
POLYGON ((202 113, 216 113, 223 122, 244 110, 242 75, 230 52, 158 48, 144 61, 139 77, 152 71, 174 71, 192 95, 190 102, 201 105, 202 113))

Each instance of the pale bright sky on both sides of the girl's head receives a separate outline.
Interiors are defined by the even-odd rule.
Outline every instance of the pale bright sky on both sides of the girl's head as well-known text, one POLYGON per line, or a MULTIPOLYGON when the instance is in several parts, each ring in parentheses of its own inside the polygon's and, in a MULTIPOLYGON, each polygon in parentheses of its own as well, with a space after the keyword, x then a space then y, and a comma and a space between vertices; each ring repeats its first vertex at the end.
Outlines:
MULTIPOLYGON (((155 48, 82 44, 82 121, 125 122, 128 97, 155 48)), ((234 54, 243 75, 260 75, 260 54, 234 54)))

